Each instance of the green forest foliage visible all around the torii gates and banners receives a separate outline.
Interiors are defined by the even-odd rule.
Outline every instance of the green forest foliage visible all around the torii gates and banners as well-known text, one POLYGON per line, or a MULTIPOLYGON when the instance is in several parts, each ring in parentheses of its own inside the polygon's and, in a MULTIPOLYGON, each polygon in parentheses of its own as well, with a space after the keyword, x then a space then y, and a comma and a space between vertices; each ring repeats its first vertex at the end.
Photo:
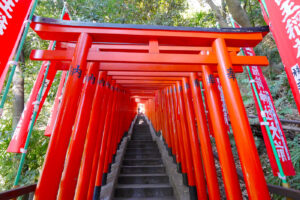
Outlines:
MULTIPOLYGON (((215 16, 210 11, 199 11, 189 15, 191 17, 184 17, 183 13, 187 12, 187 0, 67 0, 67 2, 73 20, 169 26, 216 26, 215 16)), ((241 0, 241 2, 253 26, 265 25, 257 0, 241 0)), ((62 8, 63 1, 61 0, 39 0, 35 14, 43 17, 59 18, 62 8)), ((228 14, 226 5, 224 9, 224 13, 228 14)), ((29 32, 24 47, 26 60, 22 68, 25 77, 25 100, 30 94, 41 66, 41 62, 30 61, 28 59, 29 54, 32 49, 47 49, 48 44, 49 41, 41 40, 33 31, 29 32)), ((283 70, 283 65, 273 38, 270 35, 266 36, 264 41, 255 48, 255 51, 258 55, 266 55, 270 61, 270 66, 264 69, 263 72, 269 84, 278 114, 280 117, 289 119, 298 117, 294 98, 289 88, 286 74, 283 70)), ((60 74, 57 76, 59 75, 60 74)), ((247 73, 239 74, 237 78, 247 112, 256 114, 247 73)), ((39 170, 41 169, 49 141, 49 139, 43 135, 43 132, 47 120, 50 117, 50 109, 56 94, 57 85, 58 78, 56 78, 56 81, 53 83, 44 108, 36 122, 29 145, 29 151, 26 156, 25 166, 22 171, 21 185, 36 182, 38 179, 39 170)), ((6 148, 13 133, 11 110, 12 94, 10 93, 7 104, 5 105, 4 117, 0 120, 1 190, 11 188, 20 160, 20 155, 6 153, 6 148)), ((233 135, 230 135, 230 137, 234 155, 237 157, 233 135)), ((258 138, 255 138, 255 142, 258 147, 263 145, 263 142, 258 138)), ((292 140, 288 138, 288 145, 297 172, 297 175, 289 177, 288 181, 293 188, 300 189, 299 136, 294 137, 292 140)), ((273 177, 266 153, 261 155, 261 161, 267 182, 279 185, 280 180, 273 177)))

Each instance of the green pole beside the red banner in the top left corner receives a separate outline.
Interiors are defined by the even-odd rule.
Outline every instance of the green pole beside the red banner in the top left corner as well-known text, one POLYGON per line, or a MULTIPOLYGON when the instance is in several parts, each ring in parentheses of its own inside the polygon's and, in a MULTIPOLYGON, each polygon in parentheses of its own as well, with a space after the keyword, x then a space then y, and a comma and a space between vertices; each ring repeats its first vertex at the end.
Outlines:
POLYGON ((13 80, 13 77, 14 77, 14 74, 15 74, 15 71, 16 71, 16 67, 19 64, 18 62, 19 62, 19 59, 20 59, 20 56, 21 56, 21 52, 22 52, 22 49, 23 49, 23 46, 24 46, 24 43, 25 43, 25 39, 26 39, 28 31, 29 31, 29 27, 30 27, 31 20, 32 20, 32 17, 33 17, 33 13, 34 13, 34 11, 36 9, 37 3, 38 3, 38 0, 35 0, 34 4, 32 6, 32 9, 31 9, 29 18, 27 20, 25 30, 24 30, 22 38, 21 38, 21 41, 20 41, 20 44, 19 44, 19 47, 18 47, 18 50, 17 50, 16 57, 15 57, 15 59, 13 61, 14 64, 13 64, 13 66, 11 68, 11 72, 9 74, 9 78, 7 80, 7 83, 6 83, 6 86, 5 86, 5 90, 4 90, 4 93, 3 93, 3 97, 2 97, 1 103, 0 103, 0 118, 1 118, 2 113, 3 113, 3 107, 4 107, 5 101, 7 99, 8 91, 9 91, 11 82, 13 80))

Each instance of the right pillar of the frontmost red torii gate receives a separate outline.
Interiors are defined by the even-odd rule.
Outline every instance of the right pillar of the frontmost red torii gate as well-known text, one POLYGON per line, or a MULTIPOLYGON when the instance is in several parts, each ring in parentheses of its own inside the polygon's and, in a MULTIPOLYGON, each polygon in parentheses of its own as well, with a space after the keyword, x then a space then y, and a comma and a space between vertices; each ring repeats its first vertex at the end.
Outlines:
POLYGON ((225 102, 228 108, 249 198, 270 199, 237 81, 232 76, 228 77, 232 64, 228 52, 224 50, 224 48, 226 48, 225 41, 223 39, 216 39, 213 43, 213 48, 219 60, 219 77, 224 91, 225 102))

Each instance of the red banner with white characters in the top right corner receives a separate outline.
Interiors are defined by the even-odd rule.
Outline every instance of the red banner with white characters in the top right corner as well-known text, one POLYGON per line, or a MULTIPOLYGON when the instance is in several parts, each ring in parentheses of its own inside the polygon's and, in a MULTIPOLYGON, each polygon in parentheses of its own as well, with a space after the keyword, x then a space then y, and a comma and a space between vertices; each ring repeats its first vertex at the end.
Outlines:
POLYGON ((265 2, 269 13, 269 25, 300 113, 300 1, 265 2))

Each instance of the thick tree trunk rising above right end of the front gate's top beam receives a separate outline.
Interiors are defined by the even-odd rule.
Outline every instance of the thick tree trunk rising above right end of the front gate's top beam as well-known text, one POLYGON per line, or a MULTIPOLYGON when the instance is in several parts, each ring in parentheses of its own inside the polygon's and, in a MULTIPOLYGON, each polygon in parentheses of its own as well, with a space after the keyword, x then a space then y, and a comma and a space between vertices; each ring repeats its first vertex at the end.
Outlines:
POLYGON ((233 19, 242 27, 252 27, 246 11, 241 6, 240 0, 226 0, 228 10, 233 19))

